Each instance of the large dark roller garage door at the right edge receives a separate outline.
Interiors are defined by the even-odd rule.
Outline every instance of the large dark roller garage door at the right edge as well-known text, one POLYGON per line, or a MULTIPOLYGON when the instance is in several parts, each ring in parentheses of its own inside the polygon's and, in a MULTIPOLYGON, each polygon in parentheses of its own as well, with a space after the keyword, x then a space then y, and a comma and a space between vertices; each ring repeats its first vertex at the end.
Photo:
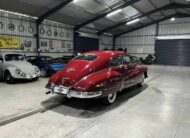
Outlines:
POLYGON ((190 66, 190 40, 157 40, 156 64, 190 66))

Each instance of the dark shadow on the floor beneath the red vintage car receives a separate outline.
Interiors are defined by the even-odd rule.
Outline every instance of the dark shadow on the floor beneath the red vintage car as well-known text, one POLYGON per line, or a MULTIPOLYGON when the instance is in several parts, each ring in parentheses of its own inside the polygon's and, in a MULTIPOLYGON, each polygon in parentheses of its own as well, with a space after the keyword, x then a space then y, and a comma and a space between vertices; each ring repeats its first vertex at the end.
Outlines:
POLYGON ((60 103, 60 106, 49 109, 51 111, 63 114, 64 116, 73 116, 78 118, 92 118, 102 115, 110 110, 116 109, 122 104, 125 104, 129 99, 143 92, 148 88, 148 85, 143 85, 141 88, 136 86, 123 90, 118 93, 115 103, 111 105, 104 105, 101 99, 67 99, 63 96, 54 96, 41 103, 46 107, 52 101, 60 103))

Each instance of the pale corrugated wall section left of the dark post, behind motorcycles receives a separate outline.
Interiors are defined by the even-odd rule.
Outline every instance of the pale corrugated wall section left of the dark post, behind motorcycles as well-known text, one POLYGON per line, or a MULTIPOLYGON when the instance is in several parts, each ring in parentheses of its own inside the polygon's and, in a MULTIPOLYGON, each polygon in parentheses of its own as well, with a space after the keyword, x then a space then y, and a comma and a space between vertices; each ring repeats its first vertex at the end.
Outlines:
POLYGON ((134 56, 146 57, 154 53, 156 25, 123 35, 116 40, 116 49, 127 48, 134 56))

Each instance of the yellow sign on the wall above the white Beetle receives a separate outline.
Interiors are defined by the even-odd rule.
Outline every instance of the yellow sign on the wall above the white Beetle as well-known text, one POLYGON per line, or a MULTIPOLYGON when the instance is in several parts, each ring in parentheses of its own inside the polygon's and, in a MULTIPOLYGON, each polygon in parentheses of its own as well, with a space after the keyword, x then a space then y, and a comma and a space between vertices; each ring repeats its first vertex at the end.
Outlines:
POLYGON ((20 40, 18 38, 0 36, 0 49, 18 49, 20 40))

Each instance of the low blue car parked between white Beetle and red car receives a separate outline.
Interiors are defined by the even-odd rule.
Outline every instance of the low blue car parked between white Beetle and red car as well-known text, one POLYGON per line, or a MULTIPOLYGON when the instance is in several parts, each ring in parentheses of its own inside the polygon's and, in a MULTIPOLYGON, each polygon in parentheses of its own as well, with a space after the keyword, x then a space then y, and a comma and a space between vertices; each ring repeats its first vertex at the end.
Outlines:
POLYGON ((27 60, 40 68, 42 77, 51 76, 65 67, 65 63, 50 56, 28 56, 27 60))

